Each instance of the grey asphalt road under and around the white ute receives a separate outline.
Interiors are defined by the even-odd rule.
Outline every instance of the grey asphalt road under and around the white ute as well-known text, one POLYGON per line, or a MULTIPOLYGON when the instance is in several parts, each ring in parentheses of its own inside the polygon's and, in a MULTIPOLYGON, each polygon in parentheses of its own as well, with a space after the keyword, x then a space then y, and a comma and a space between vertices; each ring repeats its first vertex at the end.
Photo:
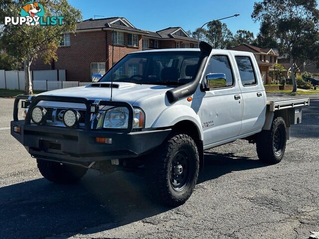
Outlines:
POLYGON ((0 99, 1 239, 307 239, 319 231, 319 99, 292 126, 281 163, 261 163, 244 140, 209 150, 193 195, 177 208, 152 203, 133 173, 91 170, 75 186, 46 181, 5 128, 12 105, 0 99))

